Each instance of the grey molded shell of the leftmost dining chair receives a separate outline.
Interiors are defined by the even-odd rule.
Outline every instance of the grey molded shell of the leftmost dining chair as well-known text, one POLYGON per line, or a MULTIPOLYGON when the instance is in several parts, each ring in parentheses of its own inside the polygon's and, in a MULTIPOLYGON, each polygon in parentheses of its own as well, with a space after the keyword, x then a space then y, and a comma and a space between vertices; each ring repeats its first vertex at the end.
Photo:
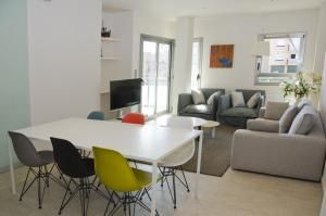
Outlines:
POLYGON ((32 141, 23 134, 8 132, 18 160, 26 166, 37 167, 43 164, 32 141))

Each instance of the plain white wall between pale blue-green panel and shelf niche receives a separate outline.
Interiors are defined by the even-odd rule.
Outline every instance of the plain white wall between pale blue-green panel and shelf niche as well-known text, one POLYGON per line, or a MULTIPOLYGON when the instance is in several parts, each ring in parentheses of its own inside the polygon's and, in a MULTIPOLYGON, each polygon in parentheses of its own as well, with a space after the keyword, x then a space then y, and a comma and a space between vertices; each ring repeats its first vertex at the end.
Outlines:
POLYGON ((101 0, 28 0, 32 124, 98 110, 101 0))

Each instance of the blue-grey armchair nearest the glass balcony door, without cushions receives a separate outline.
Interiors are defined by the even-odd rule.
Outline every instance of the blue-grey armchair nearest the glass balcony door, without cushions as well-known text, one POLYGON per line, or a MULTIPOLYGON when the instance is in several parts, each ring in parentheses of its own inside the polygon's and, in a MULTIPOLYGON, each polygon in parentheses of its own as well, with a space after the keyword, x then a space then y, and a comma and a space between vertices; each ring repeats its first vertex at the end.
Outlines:
MULTIPOLYGON (((216 91, 221 91, 222 94, 225 93, 225 89, 215 89, 215 88, 202 88, 200 89, 204 94, 205 100, 210 98, 216 91)), ((218 98, 214 98, 212 105, 208 104, 193 104, 191 93, 180 93, 178 97, 178 115, 180 116, 191 116, 200 117, 208 120, 216 120, 216 113, 218 107, 218 98)))

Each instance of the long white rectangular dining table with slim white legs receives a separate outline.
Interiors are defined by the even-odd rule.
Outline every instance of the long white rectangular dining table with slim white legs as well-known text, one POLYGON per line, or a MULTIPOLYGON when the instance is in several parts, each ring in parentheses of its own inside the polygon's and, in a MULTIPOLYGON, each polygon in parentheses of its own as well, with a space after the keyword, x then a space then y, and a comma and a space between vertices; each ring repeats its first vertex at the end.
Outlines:
MULTIPOLYGON (((155 124, 141 126, 123 124, 120 122, 66 118, 15 131, 21 132, 30 139, 47 141, 49 144, 50 137, 55 137, 70 140, 77 148, 87 151, 91 151, 95 145, 112 149, 118 151, 127 158, 152 164, 151 216, 155 215, 156 208, 158 164, 165 156, 199 137, 195 186, 195 195, 196 198, 198 196, 203 137, 202 130, 161 127, 155 124)), ((9 142, 9 147, 12 192, 16 193, 13 148, 11 141, 9 142)))

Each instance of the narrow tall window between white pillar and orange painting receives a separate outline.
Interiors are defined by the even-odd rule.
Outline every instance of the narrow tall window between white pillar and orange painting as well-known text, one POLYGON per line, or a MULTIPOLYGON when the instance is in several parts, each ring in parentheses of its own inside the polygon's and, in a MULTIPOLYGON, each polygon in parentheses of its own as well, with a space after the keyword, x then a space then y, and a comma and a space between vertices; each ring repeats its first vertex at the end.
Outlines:
POLYGON ((202 38, 196 38, 192 42, 191 89, 200 88, 201 62, 202 38))

